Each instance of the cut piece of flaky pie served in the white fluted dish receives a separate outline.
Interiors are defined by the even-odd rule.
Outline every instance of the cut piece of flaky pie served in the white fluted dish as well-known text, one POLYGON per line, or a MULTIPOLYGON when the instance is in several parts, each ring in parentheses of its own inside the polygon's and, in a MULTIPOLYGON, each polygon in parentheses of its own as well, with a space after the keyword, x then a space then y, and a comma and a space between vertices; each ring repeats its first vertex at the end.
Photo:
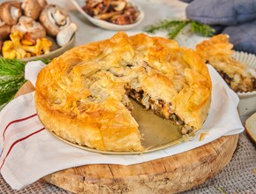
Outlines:
POLYGON ((256 90, 256 78, 252 76, 248 66, 234 59, 233 45, 226 34, 215 35, 208 41, 196 46, 196 52, 207 63, 215 67, 222 78, 235 92, 252 92, 256 90))

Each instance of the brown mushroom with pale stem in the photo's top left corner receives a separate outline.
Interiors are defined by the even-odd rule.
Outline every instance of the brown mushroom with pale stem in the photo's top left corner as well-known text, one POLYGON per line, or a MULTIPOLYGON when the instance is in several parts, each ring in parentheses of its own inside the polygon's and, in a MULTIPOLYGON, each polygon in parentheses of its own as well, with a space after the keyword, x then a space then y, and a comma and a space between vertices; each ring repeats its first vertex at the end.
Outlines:
POLYGON ((21 3, 18 1, 8 1, 0 4, 0 18, 5 24, 16 25, 21 16, 21 3))

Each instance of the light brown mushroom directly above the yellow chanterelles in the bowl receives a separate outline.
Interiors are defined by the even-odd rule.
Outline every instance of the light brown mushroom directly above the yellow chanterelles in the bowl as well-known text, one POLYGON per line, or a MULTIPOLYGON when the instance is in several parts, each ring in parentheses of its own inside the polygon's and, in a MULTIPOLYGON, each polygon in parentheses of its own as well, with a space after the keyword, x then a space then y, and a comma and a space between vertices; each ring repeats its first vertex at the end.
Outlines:
POLYGON ((11 26, 11 33, 14 33, 15 31, 19 31, 23 34, 29 33, 34 40, 46 36, 45 28, 39 22, 26 16, 21 16, 19 18, 19 23, 15 26, 11 26))

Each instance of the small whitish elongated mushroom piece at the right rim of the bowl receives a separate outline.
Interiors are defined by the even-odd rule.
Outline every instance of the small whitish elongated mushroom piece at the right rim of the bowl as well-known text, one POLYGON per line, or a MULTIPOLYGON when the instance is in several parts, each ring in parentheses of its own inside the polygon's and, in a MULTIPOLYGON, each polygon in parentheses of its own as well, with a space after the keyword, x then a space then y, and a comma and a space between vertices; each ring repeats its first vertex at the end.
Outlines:
POLYGON ((77 31, 78 26, 75 23, 71 23, 70 26, 65 27, 58 34, 56 34, 56 43, 59 46, 64 46, 71 41, 73 34, 77 31))

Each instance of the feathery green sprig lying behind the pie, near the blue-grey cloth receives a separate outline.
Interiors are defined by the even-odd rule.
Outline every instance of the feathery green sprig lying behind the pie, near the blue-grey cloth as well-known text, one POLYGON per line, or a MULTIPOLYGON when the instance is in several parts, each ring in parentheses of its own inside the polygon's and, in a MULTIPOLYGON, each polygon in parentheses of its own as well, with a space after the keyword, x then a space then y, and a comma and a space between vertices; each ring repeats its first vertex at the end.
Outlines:
POLYGON ((202 24, 200 22, 192 20, 162 20, 158 24, 147 26, 144 31, 148 34, 154 34, 156 31, 167 31, 169 39, 175 39, 184 26, 191 25, 192 33, 199 34, 201 36, 212 36, 215 34, 215 29, 211 26, 202 24))

